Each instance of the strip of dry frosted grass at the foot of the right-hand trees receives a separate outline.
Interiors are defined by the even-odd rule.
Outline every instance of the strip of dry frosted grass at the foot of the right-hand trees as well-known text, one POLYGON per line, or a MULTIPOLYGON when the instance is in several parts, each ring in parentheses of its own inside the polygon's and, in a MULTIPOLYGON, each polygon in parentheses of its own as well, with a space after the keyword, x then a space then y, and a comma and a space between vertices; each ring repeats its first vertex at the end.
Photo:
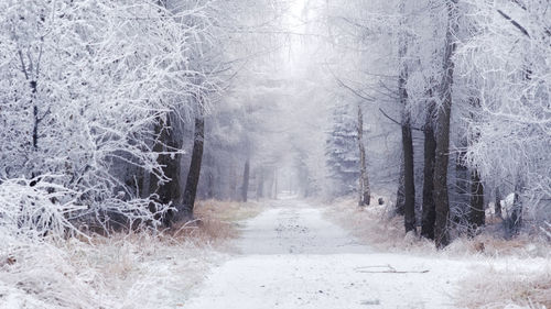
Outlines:
POLYGON ((489 220, 485 232, 475 238, 457 238, 443 252, 434 249, 432 241, 403 231, 403 217, 392 216, 388 206, 357 207, 353 199, 337 200, 326 207, 327 217, 349 230, 355 236, 381 251, 410 253, 428 252, 449 256, 482 255, 487 257, 518 256, 551 258, 551 243, 543 238, 521 234, 507 240, 496 232, 500 221, 489 220), (493 225, 494 224, 494 225, 493 225))

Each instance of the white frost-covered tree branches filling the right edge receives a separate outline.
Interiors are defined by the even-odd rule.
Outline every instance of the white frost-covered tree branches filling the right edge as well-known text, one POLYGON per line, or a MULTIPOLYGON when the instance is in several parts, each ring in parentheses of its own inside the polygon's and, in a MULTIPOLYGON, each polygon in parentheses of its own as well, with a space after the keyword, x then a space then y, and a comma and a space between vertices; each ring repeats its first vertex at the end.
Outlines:
POLYGON ((465 1, 473 23, 460 46, 464 87, 477 93, 466 119, 467 164, 487 186, 515 195, 509 230, 521 219, 549 219, 551 181, 550 10, 547 1, 465 1))

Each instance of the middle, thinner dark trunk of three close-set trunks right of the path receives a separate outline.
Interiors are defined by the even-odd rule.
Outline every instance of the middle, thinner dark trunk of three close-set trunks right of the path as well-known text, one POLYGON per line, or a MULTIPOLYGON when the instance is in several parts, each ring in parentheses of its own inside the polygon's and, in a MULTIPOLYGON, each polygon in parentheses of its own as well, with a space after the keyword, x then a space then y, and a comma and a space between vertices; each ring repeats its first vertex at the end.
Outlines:
POLYGON ((436 220, 434 198, 432 196, 436 155, 436 140, 434 139, 433 126, 434 109, 435 102, 431 99, 424 124, 423 213, 421 222, 421 235, 430 240, 434 240, 434 221, 436 220))

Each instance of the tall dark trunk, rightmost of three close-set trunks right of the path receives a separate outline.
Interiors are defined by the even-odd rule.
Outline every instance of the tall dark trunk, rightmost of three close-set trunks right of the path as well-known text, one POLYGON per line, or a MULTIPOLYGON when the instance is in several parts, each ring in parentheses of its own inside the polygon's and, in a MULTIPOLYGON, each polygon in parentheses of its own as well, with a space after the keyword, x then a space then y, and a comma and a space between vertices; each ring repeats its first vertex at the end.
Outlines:
POLYGON ((450 161, 450 118, 452 113, 452 85, 456 43, 454 34, 457 33, 457 7, 455 0, 447 0, 447 29, 444 51, 444 67, 441 85, 442 106, 436 120, 436 157, 434 161, 434 205, 436 221, 434 223, 434 240, 436 247, 442 249, 450 244, 449 217, 450 197, 447 192, 447 164, 450 161))

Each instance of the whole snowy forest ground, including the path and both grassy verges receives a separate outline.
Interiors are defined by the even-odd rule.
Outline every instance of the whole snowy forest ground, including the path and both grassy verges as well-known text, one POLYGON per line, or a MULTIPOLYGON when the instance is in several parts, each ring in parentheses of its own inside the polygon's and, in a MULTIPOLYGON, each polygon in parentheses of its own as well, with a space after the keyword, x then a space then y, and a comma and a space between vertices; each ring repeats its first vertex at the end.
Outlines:
POLYGON ((385 211, 203 201, 201 222, 154 235, 14 243, 0 252, 0 308, 551 308, 549 246, 436 251, 385 211))

